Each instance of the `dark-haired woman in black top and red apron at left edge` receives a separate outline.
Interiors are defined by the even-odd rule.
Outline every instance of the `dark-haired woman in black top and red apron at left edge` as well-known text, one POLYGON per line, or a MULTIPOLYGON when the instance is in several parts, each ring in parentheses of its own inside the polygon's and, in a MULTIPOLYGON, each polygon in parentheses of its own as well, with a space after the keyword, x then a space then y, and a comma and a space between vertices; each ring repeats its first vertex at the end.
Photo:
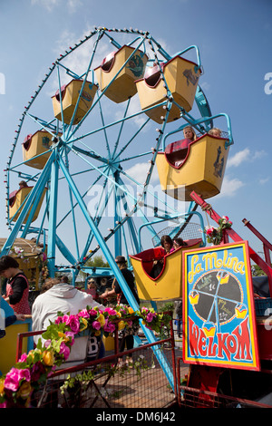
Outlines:
POLYGON ((5 301, 11 305, 15 314, 30 315, 29 284, 14 257, 0 258, 0 276, 7 279, 5 295, 3 295, 5 301))

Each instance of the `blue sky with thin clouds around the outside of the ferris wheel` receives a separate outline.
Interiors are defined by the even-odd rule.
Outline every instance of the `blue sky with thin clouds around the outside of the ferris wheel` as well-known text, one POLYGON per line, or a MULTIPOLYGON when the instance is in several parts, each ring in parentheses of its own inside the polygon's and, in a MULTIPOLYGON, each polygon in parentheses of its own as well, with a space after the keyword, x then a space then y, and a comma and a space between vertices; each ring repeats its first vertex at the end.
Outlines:
MULTIPOLYGON (((94 26, 149 31, 171 55, 198 45, 204 68, 199 84, 212 113, 230 117, 234 138, 221 194, 209 202, 262 251, 241 221, 247 218, 272 241, 271 16, 269 0, 2 0, 2 179, 24 105, 55 58, 94 26)), ((52 90, 48 84, 48 92, 52 90)), ((153 145, 149 140, 149 149, 153 145)), ((0 190, 0 203, 0 237, 6 237, 5 189, 0 190)))

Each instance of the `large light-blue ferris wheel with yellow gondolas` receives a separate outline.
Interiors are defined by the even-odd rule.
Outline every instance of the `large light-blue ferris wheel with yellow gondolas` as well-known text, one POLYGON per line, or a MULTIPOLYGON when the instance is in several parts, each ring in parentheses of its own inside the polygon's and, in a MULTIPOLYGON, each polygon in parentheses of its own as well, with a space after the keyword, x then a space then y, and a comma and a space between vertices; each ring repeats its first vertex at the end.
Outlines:
POLYGON ((20 234, 46 244, 50 276, 58 253, 62 265, 79 270, 99 250, 118 275, 114 256, 141 251, 142 224, 150 241, 157 222, 170 221, 175 232, 184 226, 193 203, 180 210, 153 181, 166 138, 188 123, 200 134, 212 126, 201 73, 197 46, 171 56, 133 29, 95 28, 60 54, 15 131, 5 169, 11 233, 1 256, 20 234), (180 56, 192 51, 197 61, 185 60, 184 70, 180 56), (169 63, 181 67, 186 99, 172 88, 169 63), (19 180, 26 186, 18 190, 19 180))

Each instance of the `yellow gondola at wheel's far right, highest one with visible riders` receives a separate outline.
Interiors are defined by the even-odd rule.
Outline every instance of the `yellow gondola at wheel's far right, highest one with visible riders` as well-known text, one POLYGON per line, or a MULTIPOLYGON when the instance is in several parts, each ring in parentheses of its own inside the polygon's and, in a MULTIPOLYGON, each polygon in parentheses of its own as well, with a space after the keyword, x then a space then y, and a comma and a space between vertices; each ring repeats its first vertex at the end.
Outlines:
POLYGON ((171 144, 159 152, 156 164, 160 187, 170 197, 191 201, 192 190, 202 198, 219 194, 228 159, 224 138, 204 134, 189 142, 186 149, 175 149, 171 144))

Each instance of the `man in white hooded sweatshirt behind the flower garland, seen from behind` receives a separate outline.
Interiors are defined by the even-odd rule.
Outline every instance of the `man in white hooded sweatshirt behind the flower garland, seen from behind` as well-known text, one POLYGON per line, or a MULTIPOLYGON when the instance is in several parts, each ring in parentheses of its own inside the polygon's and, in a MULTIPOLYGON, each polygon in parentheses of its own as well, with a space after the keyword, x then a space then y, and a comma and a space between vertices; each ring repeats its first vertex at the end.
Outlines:
MULTIPOLYGON (((86 306, 99 307, 102 311, 105 306, 98 304, 92 299, 92 295, 83 293, 73 286, 61 283, 60 280, 53 278, 46 282, 44 293, 38 295, 32 306, 33 331, 46 330, 50 322, 54 322, 58 312, 64 315, 76 315, 86 306), (49 289, 47 289, 49 288, 49 289)), ((37 344, 41 335, 34 336, 34 342, 37 344)), ((72 366, 77 363, 84 363, 86 358, 95 358, 99 351, 99 340, 95 336, 81 336, 74 341, 70 356, 65 362, 65 366, 72 366)))

